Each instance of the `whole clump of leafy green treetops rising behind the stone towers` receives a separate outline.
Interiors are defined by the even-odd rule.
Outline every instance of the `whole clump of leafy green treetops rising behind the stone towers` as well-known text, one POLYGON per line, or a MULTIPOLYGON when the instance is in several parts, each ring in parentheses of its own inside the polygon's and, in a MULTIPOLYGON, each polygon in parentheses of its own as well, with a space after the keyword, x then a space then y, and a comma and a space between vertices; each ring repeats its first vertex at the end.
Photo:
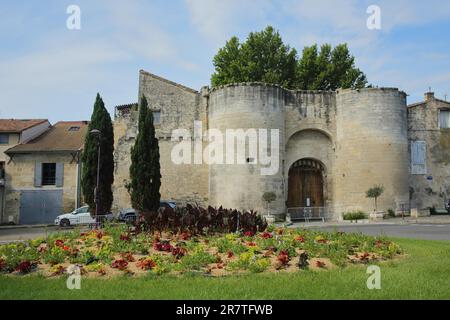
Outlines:
POLYGON ((305 47, 302 56, 283 43, 272 27, 250 33, 244 43, 231 38, 214 57, 213 87, 235 82, 266 82, 290 89, 363 88, 365 74, 355 67, 346 44, 305 47))

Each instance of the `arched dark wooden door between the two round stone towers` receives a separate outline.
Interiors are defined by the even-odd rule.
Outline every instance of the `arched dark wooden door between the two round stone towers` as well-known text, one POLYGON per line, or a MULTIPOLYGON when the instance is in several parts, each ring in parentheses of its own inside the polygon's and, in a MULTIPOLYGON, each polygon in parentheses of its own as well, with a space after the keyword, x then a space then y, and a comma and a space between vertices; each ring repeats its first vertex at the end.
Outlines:
POLYGON ((324 171, 314 159, 295 162, 289 169, 287 207, 324 207, 324 171))

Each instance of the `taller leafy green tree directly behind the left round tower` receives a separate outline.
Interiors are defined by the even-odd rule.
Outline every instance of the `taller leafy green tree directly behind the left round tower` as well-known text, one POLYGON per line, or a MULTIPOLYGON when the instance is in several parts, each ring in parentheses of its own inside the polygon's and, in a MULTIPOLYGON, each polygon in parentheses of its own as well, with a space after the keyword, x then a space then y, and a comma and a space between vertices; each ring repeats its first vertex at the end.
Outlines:
POLYGON ((213 87, 235 82, 265 82, 291 88, 295 81, 297 51, 283 43, 278 32, 267 27, 252 32, 244 43, 231 38, 214 57, 213 87))

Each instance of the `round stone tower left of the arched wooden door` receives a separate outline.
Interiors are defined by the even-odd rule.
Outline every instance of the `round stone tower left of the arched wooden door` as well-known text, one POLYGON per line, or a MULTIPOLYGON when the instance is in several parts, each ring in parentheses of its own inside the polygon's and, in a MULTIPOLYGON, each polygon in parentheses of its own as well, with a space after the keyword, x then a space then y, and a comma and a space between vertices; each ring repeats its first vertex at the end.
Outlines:
POLYGON ((228 85, 211 92, 209 129, 220 131, 224 142, 224 162, 209 167, 211 205, 266 214, 263 194, 274 192, 271 213, 284 212, 284 101, 284 89, 264 84, 228 85), (238 154, 241 143, 245 155, 238 154))

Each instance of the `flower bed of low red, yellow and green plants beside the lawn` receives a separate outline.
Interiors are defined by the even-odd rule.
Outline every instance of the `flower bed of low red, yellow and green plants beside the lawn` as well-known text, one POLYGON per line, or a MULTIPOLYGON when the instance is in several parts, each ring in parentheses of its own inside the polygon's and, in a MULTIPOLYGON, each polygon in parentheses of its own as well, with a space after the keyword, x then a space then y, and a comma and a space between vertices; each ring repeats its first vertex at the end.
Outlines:
POLYGON ((125 225, 57 233, 0 246, 0 273, 87 277, 299 272, 391 260, 402 249, 383 237, 269 227, 265 232, 132 233, 125 225))

